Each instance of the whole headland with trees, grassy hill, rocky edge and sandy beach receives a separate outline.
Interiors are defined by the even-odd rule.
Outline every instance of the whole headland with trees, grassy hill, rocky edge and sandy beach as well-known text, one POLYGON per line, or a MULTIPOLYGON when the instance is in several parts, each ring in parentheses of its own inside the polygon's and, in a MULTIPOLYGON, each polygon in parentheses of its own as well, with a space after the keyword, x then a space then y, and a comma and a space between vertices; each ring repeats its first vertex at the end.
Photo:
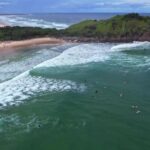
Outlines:
POLYGON ((4 41, 4 44, 1 44, 0 48, 53 43, 51 38, 45 40, 43 37, 55 37, 54 41, 56 43, 62 41, 71 43, 150 41, 150 17, 141 16, 137 13, 117 15, 107 20, 85 20, 62 30, 39 27, 11 27, 7 25, 4 27, 3 24, 1 26, 3 28, 0 30, 0 41, 4 41), (42 38, 42 41, 28 40, 37 37, 42 38), (8 44, 5 41, 14 42, 8 44))

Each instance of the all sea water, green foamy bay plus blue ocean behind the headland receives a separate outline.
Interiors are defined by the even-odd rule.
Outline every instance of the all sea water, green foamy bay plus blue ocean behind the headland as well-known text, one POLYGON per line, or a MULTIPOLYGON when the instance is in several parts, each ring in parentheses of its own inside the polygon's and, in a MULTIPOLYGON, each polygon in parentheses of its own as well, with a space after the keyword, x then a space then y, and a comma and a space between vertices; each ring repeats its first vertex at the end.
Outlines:
MULTIPOLYGON (((29 14, 0 20, 63 29, 113 15, 29 14)), ((149 116, 150 42, 0 52, 1 150, 149 150, 149 116)))

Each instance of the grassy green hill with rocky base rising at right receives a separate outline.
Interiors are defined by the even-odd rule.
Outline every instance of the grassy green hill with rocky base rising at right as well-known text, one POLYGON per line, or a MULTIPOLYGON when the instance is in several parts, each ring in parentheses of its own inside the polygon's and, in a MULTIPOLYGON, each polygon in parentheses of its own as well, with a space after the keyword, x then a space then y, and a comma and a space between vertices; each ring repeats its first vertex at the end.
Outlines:
POLYGON ((150 17, 139 14, 118 15, 108 20, 86 20, 65 30, 67 36, 99 40, 150 40, 150 17))

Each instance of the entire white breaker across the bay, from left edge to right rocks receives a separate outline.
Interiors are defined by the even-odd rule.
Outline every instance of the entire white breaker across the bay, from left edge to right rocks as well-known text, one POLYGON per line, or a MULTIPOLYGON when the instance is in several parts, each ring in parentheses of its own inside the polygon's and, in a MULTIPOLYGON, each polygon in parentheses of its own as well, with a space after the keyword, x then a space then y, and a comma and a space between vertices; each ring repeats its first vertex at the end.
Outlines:
MULTIPOLYGON (((70 66, 86 64, 90 62, 106 61, 111 58, 111 54, 124 49, 145 46, 145 42, 121 44, 82 44, 69 48, 59 56, 45 61, 33 69, 40 67, 70 66)), ((147 45, 146 45, 147 46, 147 45)), ((30 70, 23 74, 0 84, 0 103, 1 106, 17 105, 23 100, 33 96, 39 96, 46 92, 77 91, 83 92, 86 89, 82 83, 76 83, 69 80, 47 79, 42 77, 33 77, 30 70)))

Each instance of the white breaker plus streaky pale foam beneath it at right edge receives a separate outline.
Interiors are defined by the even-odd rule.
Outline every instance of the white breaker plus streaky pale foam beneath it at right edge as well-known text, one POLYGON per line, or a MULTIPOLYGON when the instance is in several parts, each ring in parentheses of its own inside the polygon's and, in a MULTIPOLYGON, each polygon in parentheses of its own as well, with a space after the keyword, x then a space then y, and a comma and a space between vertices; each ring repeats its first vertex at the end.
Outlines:
POLYGON ((132 43, 125 43, 113 46, 111 48, 111 52, 119 52, 120 56, 117 56, 117 60, 119 65, 122 67, 131 67, 133 69, 144 69, 143 71, 149 71, 150 69, 150 42, 132 42, 132 43), (134 53, 135 55, 128 55, 130 53, 122 53, 122 52, 138 52, 134 53), (142 54, 142 55, 140 55, 142 54))

